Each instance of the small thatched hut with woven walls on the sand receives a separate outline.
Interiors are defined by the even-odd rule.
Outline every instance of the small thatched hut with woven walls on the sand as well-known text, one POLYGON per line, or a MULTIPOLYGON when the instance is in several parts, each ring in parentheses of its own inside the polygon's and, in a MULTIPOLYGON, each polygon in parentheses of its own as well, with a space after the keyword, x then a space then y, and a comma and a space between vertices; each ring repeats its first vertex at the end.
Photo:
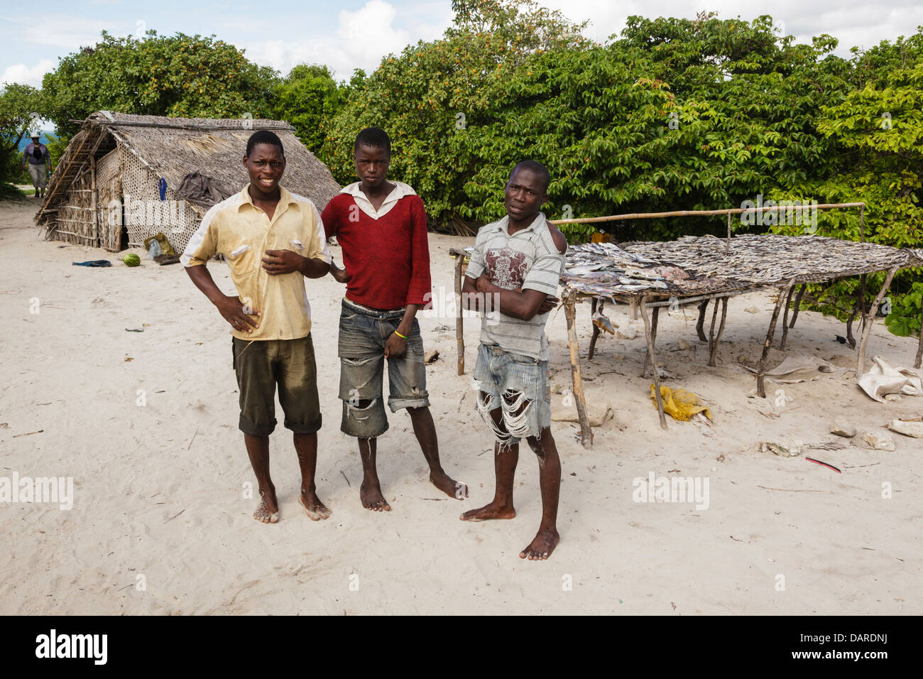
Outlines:
POLYGON ((248 181, 241 159, 257 129, 282 139, 282 185, 323 210, 340 185, 284 121, 98 111, 58 161, 35 222, 47 238, 111 251, 160 232, 181 252, 210 206, 248 181))

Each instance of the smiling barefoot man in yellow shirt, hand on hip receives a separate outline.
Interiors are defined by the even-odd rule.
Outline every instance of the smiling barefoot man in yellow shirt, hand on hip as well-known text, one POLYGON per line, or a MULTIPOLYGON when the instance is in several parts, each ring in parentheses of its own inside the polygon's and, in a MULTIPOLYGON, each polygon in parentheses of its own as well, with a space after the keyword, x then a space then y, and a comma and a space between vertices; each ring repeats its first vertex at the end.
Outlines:
POLYGON ((320 502, 314 483, 320 406, 305 278, 330 271, 327 236, 314 203, 279 186, 285 155, 276 134, 255 132, 247 141, 244 166, 250 183, 206 212, 181 261, 233 329, 239 427, 261 498, 254 518, 279 520, 270 478, 278 383, 284 425, 294 432, 301 467, 299 502, 318 521, 328 518, 330 510, 320 502), (228 262, 236 296, 224 295, 206 268, 216 252, 228 262))

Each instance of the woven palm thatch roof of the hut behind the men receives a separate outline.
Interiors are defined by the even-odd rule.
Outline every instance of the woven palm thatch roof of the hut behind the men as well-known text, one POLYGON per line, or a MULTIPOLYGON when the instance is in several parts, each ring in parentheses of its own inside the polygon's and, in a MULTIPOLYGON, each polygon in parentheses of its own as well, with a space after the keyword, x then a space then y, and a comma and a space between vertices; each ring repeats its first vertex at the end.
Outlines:
MULTIPOLYGON (((67 199, 70 185, 90 166, 90 158, 121 146, 175 190, 194 172, 222 187, 238 191, 249 180, 242 159, 246 141, 258 129, 270 129, 282 139, 286 167, 282 186, 312 200, 318 210, 340 191, 330 170, 294 136, 294 127, 282 120, 168 118, 97 111, 83 121, 58 161, 35 215, 36 224, 51 227, 55 213, 67 199)), ((203 214, 208 206, 189 206, 203 214)))

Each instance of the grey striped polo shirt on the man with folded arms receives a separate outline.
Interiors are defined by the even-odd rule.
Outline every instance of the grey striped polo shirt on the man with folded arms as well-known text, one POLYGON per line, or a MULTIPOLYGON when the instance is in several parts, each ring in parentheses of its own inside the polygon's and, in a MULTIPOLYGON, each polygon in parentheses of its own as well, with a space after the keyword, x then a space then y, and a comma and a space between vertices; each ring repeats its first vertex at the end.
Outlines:
MULTIPOLYGON (((532 224, 512 236, 507 233, 509 216, 486 224, 477 232, 474 250, 465 275, 477 278, 485 271, 491 283, 507 290, 530 288, 547 295, 557 295, 557 284, 564 270, 564 255, 557 251, 555 241, 539 212, 532 224)), ((538 360, 548 360, 548 338, 545 321, 548 314, 538 314, 521 321, 497 313, 493 321, 481 319, 481 343, 499 345, 510 354, 521 354, 538 360)))

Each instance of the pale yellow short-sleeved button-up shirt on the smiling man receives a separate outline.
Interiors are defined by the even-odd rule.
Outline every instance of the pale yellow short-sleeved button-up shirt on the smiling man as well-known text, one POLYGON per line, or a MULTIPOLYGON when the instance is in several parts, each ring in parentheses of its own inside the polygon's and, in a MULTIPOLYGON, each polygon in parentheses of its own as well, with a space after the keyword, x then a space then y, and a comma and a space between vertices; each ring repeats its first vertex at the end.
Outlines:
POLYGON ((330 263, 327 236, 311 200, 280 187, 281 198, 270 220, 253 204, 247 184, 240 193, 202 217, 180 261, 201 266, 221 252, 231 269, 231 280, 241 301, 259 323, 252 333, 232 330, 245 340, 298 339, 311 332, 311 306, 302 273, 270 276, 262 267, 268 249, 290 249, 302 257, 330 263))

